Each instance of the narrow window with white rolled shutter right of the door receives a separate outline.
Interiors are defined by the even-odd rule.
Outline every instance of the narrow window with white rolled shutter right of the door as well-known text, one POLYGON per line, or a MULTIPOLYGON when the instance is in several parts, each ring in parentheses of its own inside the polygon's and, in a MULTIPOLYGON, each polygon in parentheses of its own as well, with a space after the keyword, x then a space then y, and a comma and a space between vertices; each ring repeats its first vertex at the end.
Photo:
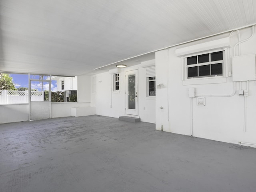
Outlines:
POLYGON ((147 97, 156 96, 156 67, 150 66, 146 68, 147 97))

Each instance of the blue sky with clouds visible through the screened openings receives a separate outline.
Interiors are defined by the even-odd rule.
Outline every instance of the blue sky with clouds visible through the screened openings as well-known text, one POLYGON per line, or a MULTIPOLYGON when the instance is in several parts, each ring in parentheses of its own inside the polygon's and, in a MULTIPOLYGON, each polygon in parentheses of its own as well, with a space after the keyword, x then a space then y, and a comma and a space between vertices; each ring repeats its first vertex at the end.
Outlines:
MULTIPOLYGON (((10 74, 10 76, 12 77, 12 80, 16 88, 19 88, 19 87, 28 88, 28 74, 10 74)), ((33 79, 38 79, 38 78, 39 78, 38 76, 33 77, 33 79)), ((32 81, 31 88, 41 91, 42 84, 40 84, 39 81, 32 81)), ((43 90, 48 90, 48 89, 49 89, 49 83, 43 82, 43 90)), ((57 82, 52 81, 52 91, 56 91, 56 90, 57 90, 57 82)))

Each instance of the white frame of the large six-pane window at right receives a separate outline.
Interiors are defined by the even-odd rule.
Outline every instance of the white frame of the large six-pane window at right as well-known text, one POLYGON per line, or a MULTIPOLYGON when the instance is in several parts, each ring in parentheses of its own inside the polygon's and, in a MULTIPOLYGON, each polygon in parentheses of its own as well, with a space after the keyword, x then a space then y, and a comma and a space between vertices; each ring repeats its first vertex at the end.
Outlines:
MULTIPOLYGON (((183 83, 183 85, 225 83, 226 77, 228 77, 227 55, 228 55, 228 48, 224 48, 224 49, 216 49, 216 50, 211 50, 211 51, 206 51, 206 52, 190 54, 190 55, 186 55, 186 56, 182 57, 182 83, 183 83), (188 66, 187 66, 187 58, 188 57, 209 54, 209 53, 219 52, 219 51, 223 51, 222 75, 188 78, 188 66)), ((214 64, 214 63, 220 63, 220 62, 219 61, 205 62, 205 63, 200 63, 200 64, 191 64, 189 66, 190 67, 203 66, 203 65, 209 65, 209 64, 214 64)))

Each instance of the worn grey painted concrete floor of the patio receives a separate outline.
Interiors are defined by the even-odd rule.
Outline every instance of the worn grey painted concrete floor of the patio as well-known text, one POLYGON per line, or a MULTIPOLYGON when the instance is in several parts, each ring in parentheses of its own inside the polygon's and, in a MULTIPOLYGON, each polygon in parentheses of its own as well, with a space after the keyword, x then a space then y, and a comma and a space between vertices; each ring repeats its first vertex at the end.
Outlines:
POLYGON ((0 125, 1 192, 255 192, 256 149, 104 116, 0 125))

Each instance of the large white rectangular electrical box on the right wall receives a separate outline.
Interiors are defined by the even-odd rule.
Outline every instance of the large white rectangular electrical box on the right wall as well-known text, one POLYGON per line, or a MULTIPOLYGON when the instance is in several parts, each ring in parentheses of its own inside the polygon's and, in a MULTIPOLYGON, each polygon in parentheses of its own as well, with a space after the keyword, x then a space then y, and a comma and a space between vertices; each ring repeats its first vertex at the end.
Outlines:
POLYGON ((233 81, 255 81, 255 54, 232 57, 233 81))

